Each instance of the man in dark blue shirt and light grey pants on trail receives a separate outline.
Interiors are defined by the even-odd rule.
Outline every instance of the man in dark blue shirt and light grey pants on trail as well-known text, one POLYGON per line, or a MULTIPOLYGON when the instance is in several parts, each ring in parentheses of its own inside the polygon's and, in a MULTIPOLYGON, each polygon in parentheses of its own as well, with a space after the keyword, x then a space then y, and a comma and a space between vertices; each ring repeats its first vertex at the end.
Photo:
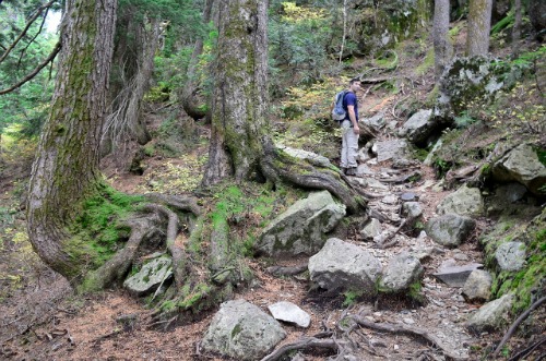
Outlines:
POLYGON ((358 153, 358 100, 356 91, 360 89, 360 79, 352 79, 348 91, 343 97, 343 108, 346 110, 345 119, 340 122, 342 128, 341 169, 347 176, 356 175, 356 154, 358 153))

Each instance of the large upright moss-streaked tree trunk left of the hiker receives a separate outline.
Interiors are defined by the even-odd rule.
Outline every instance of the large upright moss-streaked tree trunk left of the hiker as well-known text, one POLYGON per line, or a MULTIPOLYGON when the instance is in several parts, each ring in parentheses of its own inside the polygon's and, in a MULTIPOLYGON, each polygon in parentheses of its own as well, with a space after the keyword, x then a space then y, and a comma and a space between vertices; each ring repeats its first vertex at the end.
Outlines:
POLYGON ((221 0, 212 139, 203 185, 249 179, 266 134, 268 1, 221 0))

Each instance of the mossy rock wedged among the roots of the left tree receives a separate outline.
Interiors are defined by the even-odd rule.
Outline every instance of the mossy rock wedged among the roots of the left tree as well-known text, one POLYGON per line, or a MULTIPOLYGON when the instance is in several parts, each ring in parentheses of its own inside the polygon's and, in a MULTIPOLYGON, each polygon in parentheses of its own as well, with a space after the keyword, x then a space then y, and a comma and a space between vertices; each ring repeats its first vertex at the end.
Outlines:
POLYGON ((140 272, 127 278, 123 287, 133 294, 143 296, 157 289, 171 276, 173 260, 168 255, 162 255, 151 260, 140 272))

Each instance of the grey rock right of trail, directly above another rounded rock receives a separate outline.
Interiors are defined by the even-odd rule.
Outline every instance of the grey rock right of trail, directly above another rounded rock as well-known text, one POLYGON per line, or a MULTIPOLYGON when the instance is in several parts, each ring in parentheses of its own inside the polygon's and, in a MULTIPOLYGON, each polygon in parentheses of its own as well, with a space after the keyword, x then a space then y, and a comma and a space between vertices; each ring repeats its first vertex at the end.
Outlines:
POLYGON ((456 192, 446 196, 437 206, 439 215, 454 213, 460 216, 479 216, 484 212, 484 198, 477 188, 468 188, 466 184, 456 192))

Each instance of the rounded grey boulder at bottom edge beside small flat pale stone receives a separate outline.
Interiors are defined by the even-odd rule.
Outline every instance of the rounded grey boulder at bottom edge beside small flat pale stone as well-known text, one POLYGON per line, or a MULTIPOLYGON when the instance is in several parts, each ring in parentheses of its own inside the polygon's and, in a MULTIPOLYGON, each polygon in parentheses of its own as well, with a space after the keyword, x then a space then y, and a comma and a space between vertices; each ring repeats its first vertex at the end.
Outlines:
POLYGON ((286 332, 276 320, 245 300, 236 300, 222 303, 201 346, 210 352, 253 361, 268 354, 285 337, 286 332))

